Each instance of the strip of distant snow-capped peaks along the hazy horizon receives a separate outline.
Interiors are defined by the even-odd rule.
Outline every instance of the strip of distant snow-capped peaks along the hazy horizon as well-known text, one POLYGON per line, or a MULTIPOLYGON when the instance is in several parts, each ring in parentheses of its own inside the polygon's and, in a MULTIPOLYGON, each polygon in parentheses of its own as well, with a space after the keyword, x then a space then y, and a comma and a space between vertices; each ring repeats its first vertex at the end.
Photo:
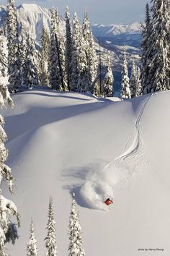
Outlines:
POLYGON ((121 34, 140 34, 141 25, 138 22, 131 23, 130 25, 112 24, 112 25, 92 25, 94 36, 112 37, 113 35, 121 34))

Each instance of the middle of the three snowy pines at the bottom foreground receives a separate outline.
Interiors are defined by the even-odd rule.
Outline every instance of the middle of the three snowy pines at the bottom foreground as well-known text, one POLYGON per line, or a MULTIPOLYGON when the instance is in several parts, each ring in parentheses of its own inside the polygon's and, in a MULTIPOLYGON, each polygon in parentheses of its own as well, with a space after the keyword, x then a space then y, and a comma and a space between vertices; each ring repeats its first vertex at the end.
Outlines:
POLYGON ((55 220, 53 211, 53 200, 50 197, 48 206, 48 234, 45 237, 45 247, 47 248, 46 256, 56 256, 57 255, 57 244, 55 239, 55 220))

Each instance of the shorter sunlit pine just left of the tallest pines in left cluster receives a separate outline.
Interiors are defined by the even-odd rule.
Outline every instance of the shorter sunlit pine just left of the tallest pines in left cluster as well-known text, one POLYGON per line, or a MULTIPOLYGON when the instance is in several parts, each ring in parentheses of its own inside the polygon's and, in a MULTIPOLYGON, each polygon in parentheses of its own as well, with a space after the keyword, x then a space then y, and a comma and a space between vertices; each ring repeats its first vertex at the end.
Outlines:
POLYGON ((42 35, 40 38, 40 72, 39 72, 39 80, 40 85, 48 85, 48 61, 49 61, 49 52, 50 52, 50 38, 48 35, 48 31, 45 27, 42 27, 42 35))

